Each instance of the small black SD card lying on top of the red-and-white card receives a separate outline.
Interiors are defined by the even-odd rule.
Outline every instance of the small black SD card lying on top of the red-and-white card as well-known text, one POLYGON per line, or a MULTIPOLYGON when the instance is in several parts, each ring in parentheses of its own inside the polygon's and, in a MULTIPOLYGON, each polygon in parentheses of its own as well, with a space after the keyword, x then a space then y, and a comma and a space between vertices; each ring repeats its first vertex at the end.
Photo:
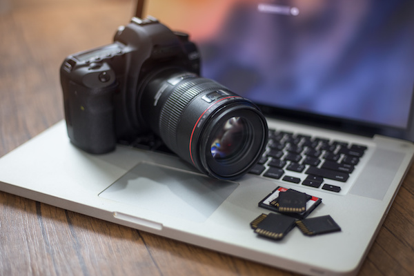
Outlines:
MULTIPOLYGON (((279 193, 277 208, 282 213, 304 213, 308 199, 310 199, 310 196, 306 195, 306 193, 289 189, 286 192, 279 193)), ((273 205, 273 202, 270 202, 270 204, 273 205)))

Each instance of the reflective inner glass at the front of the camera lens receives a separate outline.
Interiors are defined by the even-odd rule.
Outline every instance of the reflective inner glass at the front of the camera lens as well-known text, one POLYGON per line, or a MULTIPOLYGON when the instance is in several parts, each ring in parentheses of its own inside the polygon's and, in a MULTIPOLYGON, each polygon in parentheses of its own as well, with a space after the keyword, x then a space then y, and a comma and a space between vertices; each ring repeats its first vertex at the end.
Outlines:
POLYGON ((246 139, 246 119, 228 119, 211 144, 211 155, 217 161, 231 159, 242 150, 246 139))

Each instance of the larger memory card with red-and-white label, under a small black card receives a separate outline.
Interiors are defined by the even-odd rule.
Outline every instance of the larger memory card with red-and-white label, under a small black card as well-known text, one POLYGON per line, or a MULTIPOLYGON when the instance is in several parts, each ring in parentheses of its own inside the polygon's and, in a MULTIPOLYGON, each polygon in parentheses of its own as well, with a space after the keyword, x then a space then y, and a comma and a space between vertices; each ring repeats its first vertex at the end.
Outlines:
MULTIPOLYGON (((306 199, 306 208, 304 212, 282 212, 281 210, 279 210, 279 195, 281 193, 286 193, 287 190, 292 190, 296 193, 301 193, 297 190, 293 190, 293 189, 287 189, 287 188, 283 188, 283 187, 277 187, 275 188, 275 190, 273 190, 272 193, 270 193, 269 195, 267 195, 264 199, 262 199, 262 201, 259 202, 259 207, 268 209, 268 210, 272 210, 274 212, 278 212, 278 213, 282 213, 284 215, 288 215, 290 217, 296 217, 297 219, 304 219, 305 217, 307 217, 319 204, 321 204, 322 199, 319 197, 313 197, 311 195, 307 195, 307 199, 306 199)), ((304 193, 301 193, 304 194, 304 193)))

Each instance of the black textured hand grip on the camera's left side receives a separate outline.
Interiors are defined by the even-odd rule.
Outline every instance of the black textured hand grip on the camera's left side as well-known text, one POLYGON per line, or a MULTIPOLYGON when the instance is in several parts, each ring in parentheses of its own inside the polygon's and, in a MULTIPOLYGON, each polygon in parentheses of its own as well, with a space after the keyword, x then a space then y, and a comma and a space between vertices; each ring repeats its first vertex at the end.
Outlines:
POLYGON ((79 68, 79 71, 82 76, 79 81, 75 78, 63 86, 68 136, 72 144, 86 152, 110 152, 116 146, 115 72, 106 66, 79 68))

